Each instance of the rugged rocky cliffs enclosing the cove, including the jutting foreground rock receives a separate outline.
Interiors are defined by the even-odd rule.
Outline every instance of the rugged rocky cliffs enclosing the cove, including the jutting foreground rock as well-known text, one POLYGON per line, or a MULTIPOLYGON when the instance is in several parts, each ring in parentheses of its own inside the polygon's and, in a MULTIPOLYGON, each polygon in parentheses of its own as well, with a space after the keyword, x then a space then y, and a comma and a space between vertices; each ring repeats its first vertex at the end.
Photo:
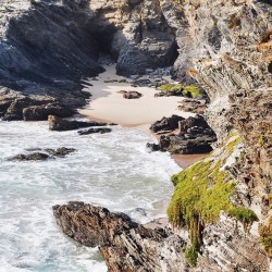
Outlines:
POLYGON ((180 133, 156 149, 213 148, 172 177, 168 226, 71 202, 53 208, 66 235, 99 246, 109 271, 271 271, 271 1, 3 0, 0 9, 3 120, 72 116, 89 98, 82 81, 110 55, 135 86, 191 99, 208 122, 161 122, 180 133))

